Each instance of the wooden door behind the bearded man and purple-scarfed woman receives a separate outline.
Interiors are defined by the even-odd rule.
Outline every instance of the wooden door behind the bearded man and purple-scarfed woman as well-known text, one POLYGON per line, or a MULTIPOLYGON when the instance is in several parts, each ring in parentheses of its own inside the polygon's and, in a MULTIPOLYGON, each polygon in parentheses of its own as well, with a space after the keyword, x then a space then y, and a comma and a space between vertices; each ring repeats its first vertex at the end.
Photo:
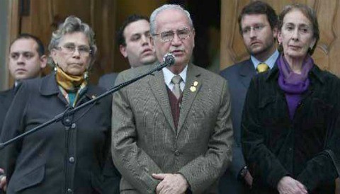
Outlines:
MULTIPOLYGON (((227 0, 221 3, 220 69, 249 57, 239 34, 237 17, 249 0, 227 0)), ((307 4, 317 11, 320 40, 312 56, 322 69, 340 76, 340 1, 267 0, 277 13, 293 2, 307 4)))

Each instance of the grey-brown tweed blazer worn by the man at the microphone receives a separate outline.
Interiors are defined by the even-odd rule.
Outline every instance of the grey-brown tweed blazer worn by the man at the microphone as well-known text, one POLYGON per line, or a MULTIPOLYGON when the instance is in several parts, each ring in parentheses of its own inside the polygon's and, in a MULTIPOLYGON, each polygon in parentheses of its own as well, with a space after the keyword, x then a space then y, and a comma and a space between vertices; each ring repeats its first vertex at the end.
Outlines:
MULTIPOLYGON (((152 67, 128 69, 116 84, 152 67)), ((112 110, 112 154, 123 176, 121 192, 154 193, 159 181, 152 173, 181 173, 193 193, 217 193, 218 178, 232 159, 225 79, 188 65, 177 130, 162 71, 114 93, 112 110)))

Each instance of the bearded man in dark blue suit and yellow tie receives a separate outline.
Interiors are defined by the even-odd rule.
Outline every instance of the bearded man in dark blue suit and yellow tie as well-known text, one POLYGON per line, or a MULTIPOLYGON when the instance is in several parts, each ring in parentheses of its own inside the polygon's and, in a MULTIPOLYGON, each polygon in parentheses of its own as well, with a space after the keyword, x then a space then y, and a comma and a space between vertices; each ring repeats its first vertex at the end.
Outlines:
POLYGON ((256 72, 271 69, 279 55, 275 43, 278 16, 271 6, 261 1, 251 2, 242 9, 238 22, 250 59, 234 64, 220 73, 229 82, 235 139, 232 165, 220 180, 220 193, 249 193, 247 190, 251 188, 252 176, 246 169, 240 137, 244 99, 251 77, 256 72))

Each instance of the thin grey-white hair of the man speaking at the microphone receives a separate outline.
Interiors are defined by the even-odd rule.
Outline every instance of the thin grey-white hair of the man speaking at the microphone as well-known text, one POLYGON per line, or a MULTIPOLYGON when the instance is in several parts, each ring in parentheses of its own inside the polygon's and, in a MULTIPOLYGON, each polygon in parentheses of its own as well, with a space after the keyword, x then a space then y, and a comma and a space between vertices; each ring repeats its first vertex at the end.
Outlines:
POLYGON ((160 6, 157 9, 155 9, 151 13, 151 16, 150 16, 150 32, 151 32, 151 34, 156 33, 156 22, 155 21, 156 21, 157 15, 159 13, 161 13, 162 11, 167 10, 167 9, 176 9, 176 10, 183 11, 184 13, 186 13, 186 17, 188 18, 189 25, 193 29, 193 21, 191 20, 190 13, 188 11, 186 11, 184 8, 182 8, 181 6, 176 5, 176 4, 165 4, 163 6, 160 6))

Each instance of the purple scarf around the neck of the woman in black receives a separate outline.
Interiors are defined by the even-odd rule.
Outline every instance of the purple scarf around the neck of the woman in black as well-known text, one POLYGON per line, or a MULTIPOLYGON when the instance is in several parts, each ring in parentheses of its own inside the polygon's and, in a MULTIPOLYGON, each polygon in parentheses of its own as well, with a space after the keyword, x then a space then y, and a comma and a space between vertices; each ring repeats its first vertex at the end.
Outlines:
POLYGON ((308 73, 310 72, 310 69, 312 69, 313 64, 313 59, 310 55, 307 55, 302 64, 301 74, 295 74, 283 55, 278 59, 278 69, 280 72, 278 76, 278 85, 280 86, 280 89, 285 92, 285 100, 288 103, 290 119, 292 120, 297 105, 301 101, 302 93, 307 91, 308 86, 310 86, 308 73))

